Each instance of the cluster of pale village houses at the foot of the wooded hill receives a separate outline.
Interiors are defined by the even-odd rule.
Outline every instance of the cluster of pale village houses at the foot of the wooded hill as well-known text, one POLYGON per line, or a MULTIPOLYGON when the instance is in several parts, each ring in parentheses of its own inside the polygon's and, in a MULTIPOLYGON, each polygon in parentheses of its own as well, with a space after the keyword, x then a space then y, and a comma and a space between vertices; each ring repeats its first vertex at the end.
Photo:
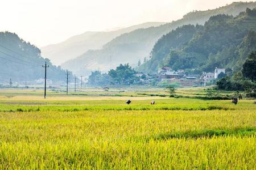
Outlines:
MULTIPOLYGON (((214 73, 203 73, 201 75, 186 75, 184 70, 173 70, 171 67, 162 67, 158 70, 158 75, 144 75, 144 74, 137 74, 137 76, 142 77, 144 76, 142 82, 144 84, 148 84, 150 80, 158 80, 159 82, 170 82, 170 81, 184 81, 189 80, 189 82, 197 82, 203 86, 206 86, 207 83, 214 81, 218 78, 220 73, 225 74, 225 69, 216 69, 214 73)), ((188 82, 188 81, 187 81, 188 82)))

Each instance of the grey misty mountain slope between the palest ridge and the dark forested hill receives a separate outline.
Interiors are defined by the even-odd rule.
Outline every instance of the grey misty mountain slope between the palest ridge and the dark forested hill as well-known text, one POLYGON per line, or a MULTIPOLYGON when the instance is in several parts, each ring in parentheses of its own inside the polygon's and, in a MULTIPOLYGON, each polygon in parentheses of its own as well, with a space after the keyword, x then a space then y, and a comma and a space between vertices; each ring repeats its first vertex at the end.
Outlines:
POLYGON ((118 66, 119 63, 130 63, 136 66, 139 59, 149 58, 155 42, 163 35, 177 27, 187 24, 204 24, 210 16, 217 14, 238 15, 246 8, 256 7, 256 2, 234 2, 230 5, 207 11, 193 11, 180 20, 160 25, 137 29, 129 33, 123 33, 108 42, 100 50, 88 50, 81 56, 63 63, 65 69, 74 71, 77 75, 88 75, 92 70, 108 71, 118 66))

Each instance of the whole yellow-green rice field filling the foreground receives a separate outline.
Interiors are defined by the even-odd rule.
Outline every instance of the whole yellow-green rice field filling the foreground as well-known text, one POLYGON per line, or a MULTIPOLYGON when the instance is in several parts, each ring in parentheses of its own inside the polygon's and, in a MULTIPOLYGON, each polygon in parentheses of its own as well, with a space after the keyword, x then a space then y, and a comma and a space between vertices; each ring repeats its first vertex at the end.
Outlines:
POLYGON ((0 169, 256 167, 255 100, 16 94, 0 97, 0 169))

